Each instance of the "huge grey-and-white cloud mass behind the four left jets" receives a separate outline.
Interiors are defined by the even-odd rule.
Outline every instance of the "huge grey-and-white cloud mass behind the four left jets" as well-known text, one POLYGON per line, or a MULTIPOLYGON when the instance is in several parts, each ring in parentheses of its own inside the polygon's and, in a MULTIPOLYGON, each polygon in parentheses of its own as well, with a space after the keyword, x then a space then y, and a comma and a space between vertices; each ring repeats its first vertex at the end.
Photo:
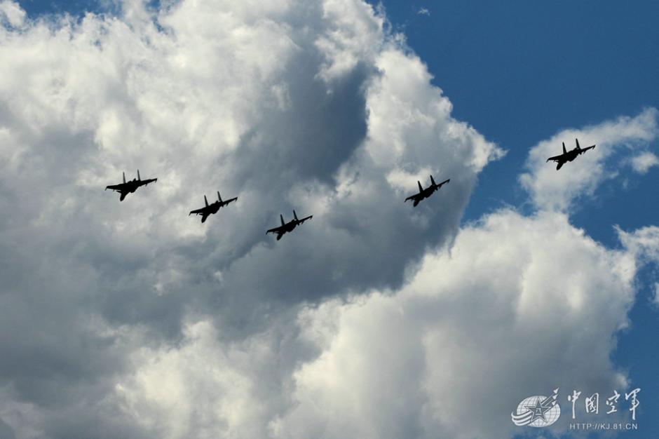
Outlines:
MULTIPOLYGON (((302 343, 282 360, 299 306, 399 288, 426 248, 454 239, 478 173, 503 154, 451 117, 362 1, 125 1, 116 16, 42 19, 4 1, 2 14, 0 425, 17 437, 159 435, 176 398, 151 407, 149 383, 177 395, 173 369, 191 366, 149 372, 149 358, 202 336, 240 344, 281 325, 269 349, 290 377, 318 353, 302 343), (100 190, 137 168, 158 182, 123 203, 100 190), (451 190, 410 210, 414 180, 391 176, 430 172, 451 190), (218 189, 238 203, 204 226, 187 217, 218 189), (273 243, 264 231, 293 208, 313 221, 273 243)), ((167 434, 217 418, 262 437, 242 419, 282 414, 287 393, 254 381, 244 367, 259 360, 245 358, 212 379, 226 393, 246 376, 264 408, 190 405, 196 428, 167 434)))

